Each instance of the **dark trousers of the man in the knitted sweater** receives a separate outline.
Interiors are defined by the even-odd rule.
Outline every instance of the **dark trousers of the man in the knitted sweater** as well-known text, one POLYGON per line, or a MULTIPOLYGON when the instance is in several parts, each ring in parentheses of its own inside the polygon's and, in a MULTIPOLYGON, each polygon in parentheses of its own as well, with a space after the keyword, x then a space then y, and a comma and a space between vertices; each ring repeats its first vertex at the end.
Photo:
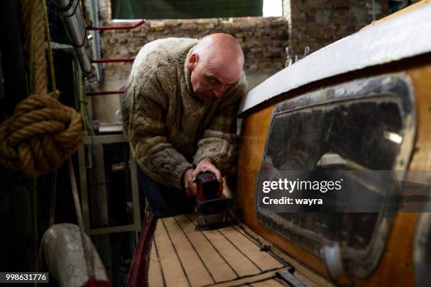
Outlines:
POLYGON ((158 183, 144 174, 139 166, 137 170, 145 198, 154 216, 170 217, 193 212, 194 198, 188 197, 185 191, 158 183))

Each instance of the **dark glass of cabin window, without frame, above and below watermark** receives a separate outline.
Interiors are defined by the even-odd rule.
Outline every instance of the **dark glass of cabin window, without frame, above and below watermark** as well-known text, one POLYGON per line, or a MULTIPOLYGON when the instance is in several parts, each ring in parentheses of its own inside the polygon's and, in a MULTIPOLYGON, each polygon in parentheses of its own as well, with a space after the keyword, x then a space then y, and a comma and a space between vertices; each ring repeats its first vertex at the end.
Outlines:
MULTIPOLYGON (((399 145, 385 138, 385 133, 398 134, 401 127, 399 105, 380 99, 276 115, 266 156, 277 170, 313 170, 328 153, 370 170, 391 170, 399 145)), ((377 221, 376 213, 282 213, 280 217, 352 248, 366 248, 377 221)))

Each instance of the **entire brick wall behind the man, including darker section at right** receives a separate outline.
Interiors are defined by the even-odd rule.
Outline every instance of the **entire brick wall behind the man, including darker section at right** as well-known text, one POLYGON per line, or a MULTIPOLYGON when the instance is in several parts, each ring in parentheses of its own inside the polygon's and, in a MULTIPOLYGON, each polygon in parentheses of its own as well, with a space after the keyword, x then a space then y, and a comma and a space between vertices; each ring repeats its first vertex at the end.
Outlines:
MULTIPOLYGON (((87 0, 88 1, 88 0, 87 0)), ((285 65, 285 47, 301 56, 304 47, 311 52, 352 34, 373 20, 373 0, 284 0, 281 18, 211 18, 194 20, 149 20, 131 31, 101 32, 103 58, 135 57, 146 43, 166 37, 204 37, 215 32, 232 34, 242 45, 249 88, 255 87, 285 65)), ((388 1, 375 0, 375 18, 388 13, 388 1)), ((101 25, 111 21, 110 0, 99 0, 101 25)), ((131 63, 103 65, 104 83, 96 90, 124 87, 131 63)), ((118 95, 92 99, 94 117, 116 121, 118 95)))

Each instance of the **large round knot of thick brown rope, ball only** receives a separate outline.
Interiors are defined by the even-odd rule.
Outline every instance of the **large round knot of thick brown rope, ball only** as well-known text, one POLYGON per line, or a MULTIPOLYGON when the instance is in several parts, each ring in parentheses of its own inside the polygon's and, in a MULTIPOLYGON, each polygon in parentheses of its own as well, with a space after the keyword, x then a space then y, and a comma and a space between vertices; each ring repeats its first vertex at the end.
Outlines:
POLYGON ((63 165, 81 143, 79 113, 50 96, 32 95, 0 125, 0 164, 37 177, 63 165))

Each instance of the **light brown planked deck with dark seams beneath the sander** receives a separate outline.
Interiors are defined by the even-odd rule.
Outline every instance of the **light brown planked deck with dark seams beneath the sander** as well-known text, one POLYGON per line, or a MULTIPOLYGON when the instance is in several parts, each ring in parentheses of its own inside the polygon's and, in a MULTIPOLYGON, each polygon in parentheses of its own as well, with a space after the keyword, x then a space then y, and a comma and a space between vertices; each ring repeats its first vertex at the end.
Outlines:
POLYGON ((192 215, 158 219, 149 286, 286 286, 285 266, 233 225, 194 231, 192 215))

